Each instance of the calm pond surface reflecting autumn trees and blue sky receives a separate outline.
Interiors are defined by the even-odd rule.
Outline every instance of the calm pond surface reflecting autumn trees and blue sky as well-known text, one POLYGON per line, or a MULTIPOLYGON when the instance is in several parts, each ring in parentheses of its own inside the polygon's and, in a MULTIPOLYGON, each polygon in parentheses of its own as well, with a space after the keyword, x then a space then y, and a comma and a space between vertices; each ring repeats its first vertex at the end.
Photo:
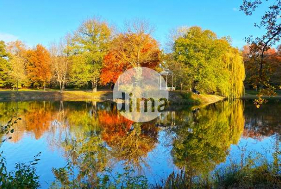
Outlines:
POLYGON ((256 109, 248 101, 218 102, 205 107, 170 106, 155 120, 133 123, 111 102, 2 102, 0 123, 21 117, 1 151, 12 170, 41 152, 36 165, 42 188, 53 181, 75 147, 91 153, 92 170, 112 173, 130 166, 150 183, 189 165, 196 174, 212 172, 242 155, 271 152, 281 133, 281 102, 256 109))

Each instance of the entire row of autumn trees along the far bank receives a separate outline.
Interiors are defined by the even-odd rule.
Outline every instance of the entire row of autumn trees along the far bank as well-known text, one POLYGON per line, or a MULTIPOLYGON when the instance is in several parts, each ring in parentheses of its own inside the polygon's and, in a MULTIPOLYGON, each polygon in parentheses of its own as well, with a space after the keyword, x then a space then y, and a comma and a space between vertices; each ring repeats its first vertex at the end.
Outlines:
MULTIPOLYGON (((1 42, 0 85, 47 85, 59 87, 61 92, 66 84, 87 89, 91 85, 95 92, 98 85, 114 86, 127 69, 144 66, 160 72, 169 68, 176 76, 176 89, 181 91, 199 90, 234 99, 244 92, 245 61, 247 83, 259 86, 255 73, 260 70, 262 51, 252 52, 259 45, 248 45, 247 53, 242 53, 231 46, 229 37, 219 38, 200 27, 178 28, 169 45, 169 52, 160 49, 146 20, 126 22, 124 30, 115 31, 106 20, 93 17, 48 49, 40 44, 28 48, 21 41, 7 46, 1 42)), ((274 85, 280 82, 279 52, 272 48, 264 52, 263 75, 268 82, 274 80, 274 85)))

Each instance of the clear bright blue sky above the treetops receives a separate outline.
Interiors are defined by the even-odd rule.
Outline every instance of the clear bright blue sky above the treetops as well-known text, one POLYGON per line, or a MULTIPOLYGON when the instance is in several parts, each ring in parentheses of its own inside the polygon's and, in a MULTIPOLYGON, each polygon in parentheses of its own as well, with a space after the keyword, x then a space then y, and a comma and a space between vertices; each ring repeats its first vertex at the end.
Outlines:
POLYGON ((266 10, 263 5, 252 16, 239 11, 242 0, 217 1, 14 1, 0 0, 0 40, 19 39, 29 46, 45 46, 74 31, 92 16, 101 16, 122 28, 125 20, 145 18, 155 26, 153 37, 165 47, 171 29, 200 26, 219 37, 230 36, 242 48, 248 35, 264 31, 254 28, 266 10))

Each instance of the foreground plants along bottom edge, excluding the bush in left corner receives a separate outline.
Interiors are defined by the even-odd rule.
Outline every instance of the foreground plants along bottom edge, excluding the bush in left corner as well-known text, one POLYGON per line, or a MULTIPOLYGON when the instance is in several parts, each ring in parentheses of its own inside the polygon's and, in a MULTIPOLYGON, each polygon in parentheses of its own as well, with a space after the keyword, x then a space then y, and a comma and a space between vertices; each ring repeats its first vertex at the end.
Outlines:
POLYGON ((89 178, 90 175, 85 174, 87 171, 81 172, 80 168, 80 172, 75 174, 73 161, 68 160, 64 168, 53 170, 56 180, 51 188, 279 188, 281 151, 278 141, 272 157, 272 162, 259 153, 250 153, 246 157, 245 149, 242 149, 240 162, 231 161, 229 166, 206 174, 195 173, 185 165, 180 172, 173 172, 167 179, 154 185, 148 184, 145 176, 136 176, 129 167, 123 173, 117 174, 112 173, 111 169, 104 169, 95 178, 89 178))

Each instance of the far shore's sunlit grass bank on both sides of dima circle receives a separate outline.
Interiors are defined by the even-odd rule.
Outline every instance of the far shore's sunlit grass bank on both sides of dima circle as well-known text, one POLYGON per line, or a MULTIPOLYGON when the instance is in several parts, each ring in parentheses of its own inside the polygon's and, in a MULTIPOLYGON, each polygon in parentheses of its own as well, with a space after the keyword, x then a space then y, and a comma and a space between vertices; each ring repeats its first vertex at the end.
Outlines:
MULTIPOLYGON (((196 95, 192 92, 170 91, 169 101, 171 104, 210 104, 223 100, 223 97, 217 95, 196 95)), ((84 101, 84 100, 112 100, 112 90, 100 89, 97 92, 85 90, 65 90, 61 93, 59 90, 48 89, 0 89, 0 102, 7 101, 84 101)))

